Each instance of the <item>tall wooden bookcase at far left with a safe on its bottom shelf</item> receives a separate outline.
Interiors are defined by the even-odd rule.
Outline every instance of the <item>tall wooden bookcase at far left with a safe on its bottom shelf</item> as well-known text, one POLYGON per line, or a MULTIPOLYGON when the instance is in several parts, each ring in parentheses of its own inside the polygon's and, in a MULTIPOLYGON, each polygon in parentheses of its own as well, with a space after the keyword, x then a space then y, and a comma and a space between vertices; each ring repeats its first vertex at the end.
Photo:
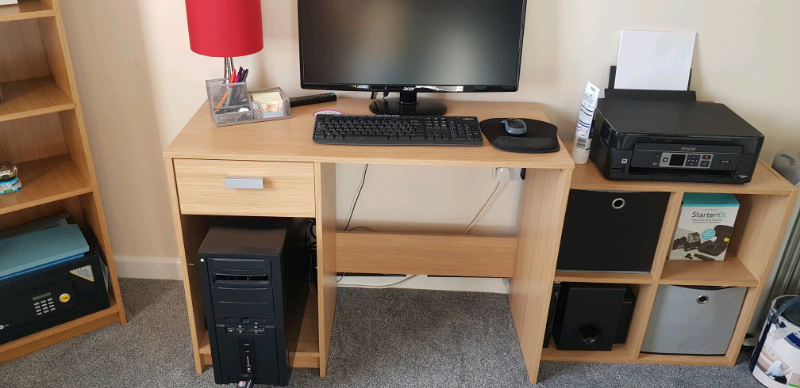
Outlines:
POLYGON ((58 0, 0 6, 0 87, 0 159, 22 181, 0 195, 0 229, 71 212, 97 239, 110 286, 109 308, 0 345, 2 363, 126 318, 58 0))

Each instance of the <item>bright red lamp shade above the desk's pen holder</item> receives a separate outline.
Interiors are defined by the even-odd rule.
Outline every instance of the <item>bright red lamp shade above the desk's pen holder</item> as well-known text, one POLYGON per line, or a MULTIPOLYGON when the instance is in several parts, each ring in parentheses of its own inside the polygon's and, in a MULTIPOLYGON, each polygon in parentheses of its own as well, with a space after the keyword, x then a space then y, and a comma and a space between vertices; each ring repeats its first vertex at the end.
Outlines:
POLYGON ((241 57, 264 48, 261 0, 186 0, 192 51, 241 57))

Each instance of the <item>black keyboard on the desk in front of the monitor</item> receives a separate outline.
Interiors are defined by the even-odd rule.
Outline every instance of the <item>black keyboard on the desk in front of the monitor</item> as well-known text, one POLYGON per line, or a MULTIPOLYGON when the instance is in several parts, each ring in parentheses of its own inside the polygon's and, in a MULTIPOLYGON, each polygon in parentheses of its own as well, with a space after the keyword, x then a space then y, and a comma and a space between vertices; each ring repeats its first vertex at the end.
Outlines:
POLYGON ((476 117, 317 115, 314 142, 479 146, 483 138, 476 117))

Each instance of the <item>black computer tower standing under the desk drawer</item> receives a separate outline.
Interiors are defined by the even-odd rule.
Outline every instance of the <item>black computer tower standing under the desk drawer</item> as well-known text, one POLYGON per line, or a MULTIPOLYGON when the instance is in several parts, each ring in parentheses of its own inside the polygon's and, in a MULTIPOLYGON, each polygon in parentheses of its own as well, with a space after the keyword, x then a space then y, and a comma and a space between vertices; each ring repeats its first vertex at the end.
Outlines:
POLYGON ((287 312, 305 304, 314 261, 304 221, 218 217, 200 246, 217 384, 289 384, 287 312))

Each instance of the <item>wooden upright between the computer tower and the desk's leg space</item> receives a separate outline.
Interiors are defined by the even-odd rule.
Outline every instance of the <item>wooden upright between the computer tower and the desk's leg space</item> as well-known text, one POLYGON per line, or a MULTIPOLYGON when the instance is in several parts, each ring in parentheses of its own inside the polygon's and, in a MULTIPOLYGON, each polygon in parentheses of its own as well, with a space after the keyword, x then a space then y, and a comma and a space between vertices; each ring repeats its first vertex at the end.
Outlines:
POLYGON ((314 163, 317 214, 317 297, 319 303, 319 375, 328 368, 336 310, 336 165, 314 163))

